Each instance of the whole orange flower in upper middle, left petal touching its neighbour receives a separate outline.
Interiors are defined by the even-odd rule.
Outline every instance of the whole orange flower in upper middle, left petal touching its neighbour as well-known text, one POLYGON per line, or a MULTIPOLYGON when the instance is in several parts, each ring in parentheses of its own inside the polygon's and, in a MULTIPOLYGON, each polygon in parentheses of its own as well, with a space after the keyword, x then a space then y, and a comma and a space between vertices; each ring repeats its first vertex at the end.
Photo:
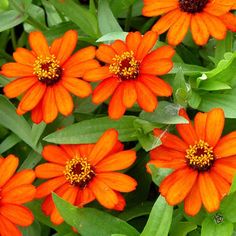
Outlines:
POLYGON ((144 36, 135 32, 129 33, 125 42, 116 40, 99 46, 96 56, 105 66, 87 71, 84 79, 103 80, 93 92, 93 102, 99 104, 112 95, 108 109, 112 119, 119 119, 136 101, 143 110, 152 112, 157 106, 156 96, 172 94, 170 85, 156 75, 171 70, 175 51, 164 46, 150 52, 157 38, 155 32, 144 36))

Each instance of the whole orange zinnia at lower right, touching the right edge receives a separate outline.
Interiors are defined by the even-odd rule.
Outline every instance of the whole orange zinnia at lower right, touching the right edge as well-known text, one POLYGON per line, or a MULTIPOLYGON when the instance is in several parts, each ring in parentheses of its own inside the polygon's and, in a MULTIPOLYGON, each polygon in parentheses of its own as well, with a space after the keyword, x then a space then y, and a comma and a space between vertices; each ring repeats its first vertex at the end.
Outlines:
MULTIPOLYGON (((189 119, 184 110, 180 114, 189 119)), ((170 205, 184 200, 188 215, 197 214, 202 204, 208 212, 214 212, 236 174, 236 132, 220 138, 224 112, 218 108, 197 113, 194 125, 178 124, 176 128, 181 139, 155 130, 162 145, 150 152, 149 163, 174 169, 162 181, 160 193, 170 205)))

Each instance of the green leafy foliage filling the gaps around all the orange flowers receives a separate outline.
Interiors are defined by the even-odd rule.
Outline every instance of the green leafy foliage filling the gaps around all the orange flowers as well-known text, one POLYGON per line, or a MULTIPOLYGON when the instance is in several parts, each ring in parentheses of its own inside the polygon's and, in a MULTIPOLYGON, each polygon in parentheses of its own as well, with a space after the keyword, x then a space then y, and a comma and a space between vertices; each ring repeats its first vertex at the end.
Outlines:
MULTIPOLYGON (((75 29, 79 32, 77 49, 124 39, 129 31, 145 33, 156 18, 143 17, 142 6, 141 0, 1 0, 0 65, 13 61, 11 55, 17 47, 28 47, 27 36, 33 30, 42 31, 51 42, 65 31, 75 29)), ((162 45, 165 45, 165 35, 160 36, 155 47, 162 45)), ((73 115, 60 116, 47 126, 45 123, 35 125, 28 115, 22 117, 15 113, 17 99, 9 101, 0 95, 0 153, 4 156, 15 153, 20 157, 20 170, 34 168, 41 161, 43 145, 48 142, 92 143, 111 127, 119 131, 119 138, 126 147, 138 151, 139 157, 127 172, 139 185, 135 192, 127 194, 124 212, 107 211, 96 203, 76 209, 54 196, 66 223, 53 225, 41 212, 40 202, 34 201, 28 206, 35 215, 35 222, 22 229, 23 235, 78 235, 71 226, 85 236, 236 235, 235 183, 219 212, 207 214, 202 210, 196 217, 188 217, 181 205, 170 207, 158 197, 156 185, 170 170, 151 166, 151 176, 145 168, 147 152, 160 145, 160 140, 152 135, 153 128, 173 131, 174 124, 186 122, 178 116, 180 106, 187 107, 192 116, 197 111, 221 107, 227 118, 225 132, 236 129, 235 49, 235 33, 228 32, 222 41, 210 39, 204 47, 196 46, 188 34, 176 47, 174 68, 164 76, 174 88, 171 99, 160 101, 154 113, 141 112, 134 107, 118 121, 107 117, 107 104, 96 106, 89 97, 74 98, 73 115), (58 131, 61 127, 65 128, 58 131)), ((8 82, 0 75, 2 87, 8 82)))

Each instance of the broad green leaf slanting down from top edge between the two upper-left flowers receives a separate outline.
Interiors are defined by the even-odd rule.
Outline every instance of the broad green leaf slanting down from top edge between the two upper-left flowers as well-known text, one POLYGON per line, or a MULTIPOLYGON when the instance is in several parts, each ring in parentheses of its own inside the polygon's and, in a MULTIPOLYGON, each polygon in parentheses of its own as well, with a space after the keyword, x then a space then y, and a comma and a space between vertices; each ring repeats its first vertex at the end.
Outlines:
POLYGON ((96 17, 85 7, 76 4, 73 0, 49 0, 53 6, 71 21, 78 25, 84 33, 96 38, 98 23, 96 17))

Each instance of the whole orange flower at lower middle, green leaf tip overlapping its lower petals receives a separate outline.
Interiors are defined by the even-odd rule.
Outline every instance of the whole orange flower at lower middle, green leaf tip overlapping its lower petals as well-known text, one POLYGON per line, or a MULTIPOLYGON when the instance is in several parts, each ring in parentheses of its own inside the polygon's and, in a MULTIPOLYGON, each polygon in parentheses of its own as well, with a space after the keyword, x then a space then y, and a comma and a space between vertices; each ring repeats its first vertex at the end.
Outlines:
POLYGON ((54 224, 63 222, 52 201, 51 192, 82 207, 95 200, 109 209, 123 210, 125 200, 119 192, 133 191, 136 181, 114 172, 131 166, 136 154, 123 151, 114 129, 107 130, 96 144, 48 145, 42 153, 49 161, 36 167, 38 178, 50 179, 37 188, 36 198, 46 197, 42 210, 54 224))

